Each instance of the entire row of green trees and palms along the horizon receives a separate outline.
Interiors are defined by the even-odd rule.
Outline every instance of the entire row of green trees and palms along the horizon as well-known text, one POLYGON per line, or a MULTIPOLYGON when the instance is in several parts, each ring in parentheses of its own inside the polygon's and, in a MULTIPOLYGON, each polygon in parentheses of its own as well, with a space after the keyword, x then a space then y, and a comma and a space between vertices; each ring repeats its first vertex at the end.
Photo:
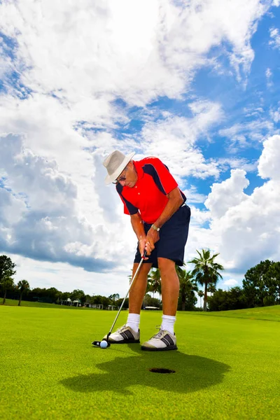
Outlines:
MULTIPOLYGON (((200 298, 200 307, 207 311, 222 311, 228 309, 244 309, 250 307, 269 306, 280 304, 280 262, 270 260, 261 261, 255 267, 248 269, 244 276, 243 288, 233 287, 225 291, 216 290, 219 279, 223 279, 221 272, 224 267, 216 262, 218 253, 211 255, 208 249, 197 251, 197 258, 188 261, 193 265, 192 270, 176 267, 180 282, 178 309, 182 311, 200 310, 196 307, 197 296, 200 298), (201 290, 202 286, 204 290, 201 290), (210 296, 209 296, 210 293, 210 296)), ((104 307, 113 305, 119 307, 123 298, 118 293, 109 297, 102 295, 88 295, 83 290, 75 289, 72 292, 61 292, 54 287, 30 288, 27 280, 21 280, 15 285, 15 264, 6 255, 0 256, 0 293, 3 304, 6 298, 19 299, 19 305, 24 298, 29 301, 60 304, 70 299, 78 300, 81 305, 102 304, 104 307)), ((129 276, 131 279, 131 276, 129 276)), ((144 297, 143 307, 154 306, 161 309, 161 281, 159 269, 151 269, 148 274, 148 284, 144 297), (160 299, 155 297, 160 295, 160 299)), ((128 307, 125 300, 124 309, 128 307)))

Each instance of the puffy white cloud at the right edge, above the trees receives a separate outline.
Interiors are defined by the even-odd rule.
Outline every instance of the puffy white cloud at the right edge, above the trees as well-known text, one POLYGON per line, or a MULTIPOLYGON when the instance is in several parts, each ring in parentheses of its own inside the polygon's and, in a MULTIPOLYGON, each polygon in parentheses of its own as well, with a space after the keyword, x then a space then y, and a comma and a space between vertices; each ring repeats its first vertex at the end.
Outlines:
POLYGON ((212 235, 220 238, 216 249, 228 269, 246 271, 265 258, 280 258, 279 138, 264 142, 259 161, 260 176, 269 181, 246 195, 246 173, 237 169, 230 179, 214 184, 205 202, 212 235))

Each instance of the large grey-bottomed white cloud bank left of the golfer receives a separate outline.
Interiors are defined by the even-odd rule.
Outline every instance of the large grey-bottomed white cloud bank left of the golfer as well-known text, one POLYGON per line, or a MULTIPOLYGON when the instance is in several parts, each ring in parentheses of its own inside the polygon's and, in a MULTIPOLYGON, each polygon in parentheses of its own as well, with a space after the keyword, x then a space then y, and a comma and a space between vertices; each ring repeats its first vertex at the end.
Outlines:
MULTIPOLYGON (((127 241, 117 239, 102 208, 90 225, 79 212, 77 187, 48 162, 24 148, 20 137, 0 138, 1 248, 39 260, 69 262, 89 270, 115 265, 127 241), (7 214, 7 216, 6 216, 7 214), (104 259, 106 255, 106 260, 104 259)), ((118 216, 118 215, 117 215, 118 216)), ((122 221, 119 221, 120 226, 122 221)), ((124 262, 123 255, 119 258, 124 262)))

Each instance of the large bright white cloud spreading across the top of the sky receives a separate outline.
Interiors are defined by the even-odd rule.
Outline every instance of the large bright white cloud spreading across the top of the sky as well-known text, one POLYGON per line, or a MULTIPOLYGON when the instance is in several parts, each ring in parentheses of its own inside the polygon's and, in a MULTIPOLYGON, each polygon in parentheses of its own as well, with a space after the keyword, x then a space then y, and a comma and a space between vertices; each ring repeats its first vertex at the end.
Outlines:
POLYGON ((207 52, 222 41, 232 44, 237 73, 248 71, 250 38, 268 6, 258 0, 180 6, 169 0, 42 0, 27 8, 18 1, 1 4, 0 25, 18 41, 22 83, 55 92, 87 120, 89 98, 94 102, 101 94, 138 105, 179 97, 207 52))

